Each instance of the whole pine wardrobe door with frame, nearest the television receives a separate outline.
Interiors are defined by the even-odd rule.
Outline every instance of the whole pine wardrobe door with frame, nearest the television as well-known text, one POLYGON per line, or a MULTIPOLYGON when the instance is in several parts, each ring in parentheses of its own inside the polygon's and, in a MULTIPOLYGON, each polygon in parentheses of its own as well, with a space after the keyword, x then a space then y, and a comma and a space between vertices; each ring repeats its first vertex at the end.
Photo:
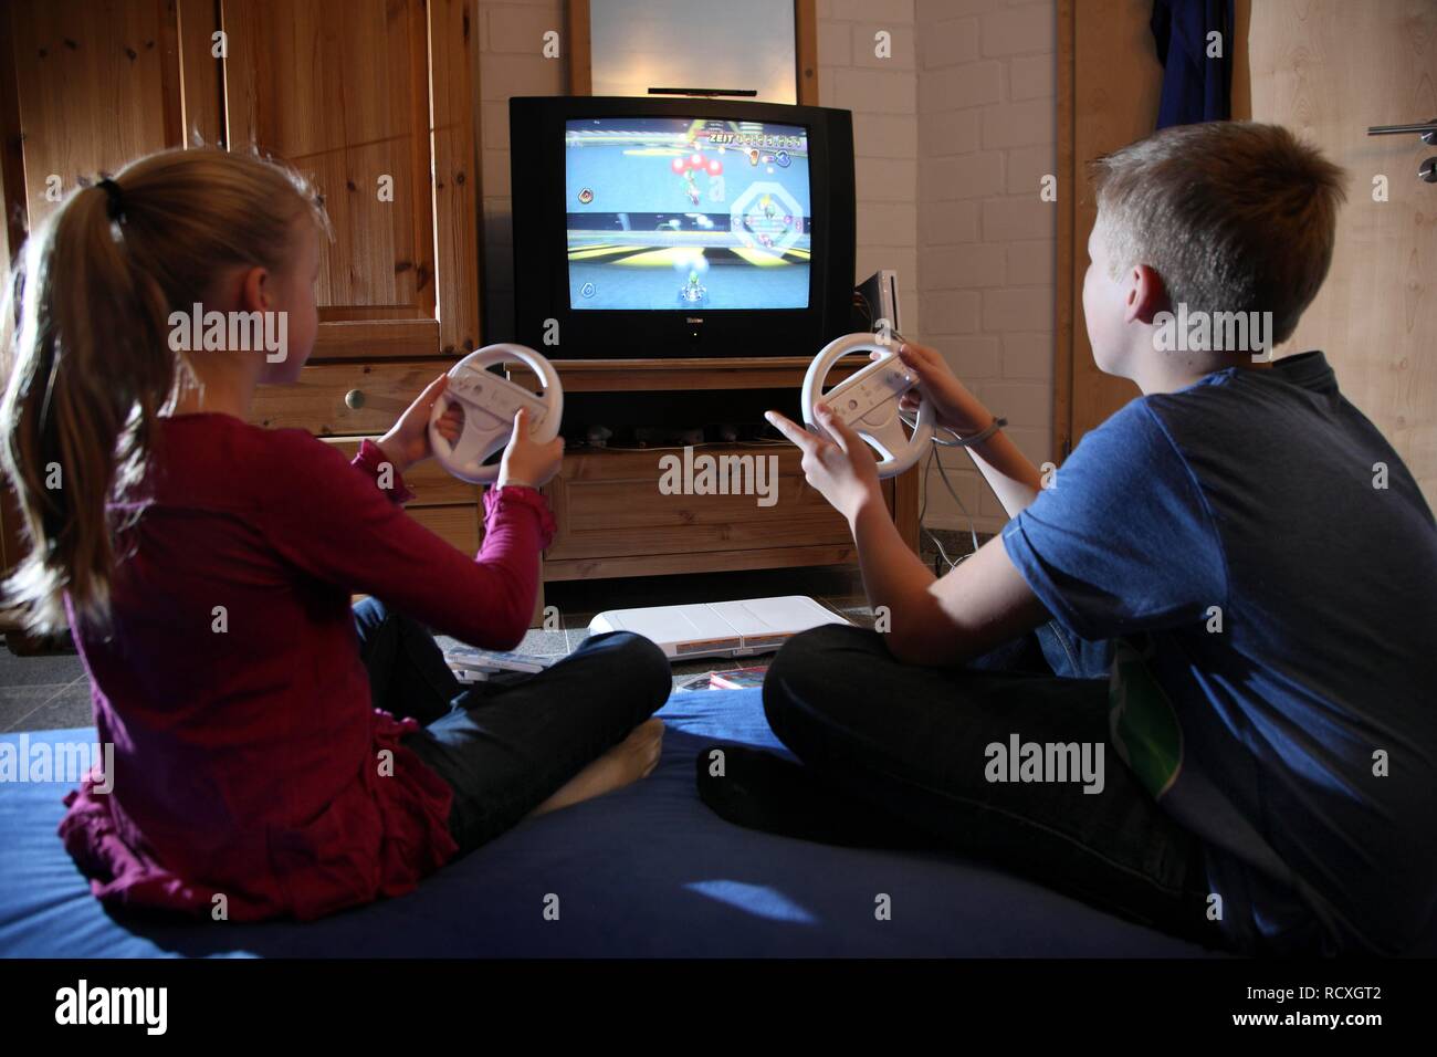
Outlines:
POLYGON ((293 164, 333 226, 316 360, 477 344, 470 1, 221 0, 228 147, 293 164))

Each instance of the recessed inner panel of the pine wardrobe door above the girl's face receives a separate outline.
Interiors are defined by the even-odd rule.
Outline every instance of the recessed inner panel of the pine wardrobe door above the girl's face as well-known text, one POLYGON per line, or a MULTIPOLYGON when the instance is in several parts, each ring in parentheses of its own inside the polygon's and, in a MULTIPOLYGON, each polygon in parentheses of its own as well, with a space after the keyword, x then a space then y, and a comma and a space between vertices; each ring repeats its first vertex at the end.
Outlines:
POLYGON ((231 147, 287 160, 329 213, 325 318, 349 306, 433 318, 422 0, 226 0, 221 20, 231 147))

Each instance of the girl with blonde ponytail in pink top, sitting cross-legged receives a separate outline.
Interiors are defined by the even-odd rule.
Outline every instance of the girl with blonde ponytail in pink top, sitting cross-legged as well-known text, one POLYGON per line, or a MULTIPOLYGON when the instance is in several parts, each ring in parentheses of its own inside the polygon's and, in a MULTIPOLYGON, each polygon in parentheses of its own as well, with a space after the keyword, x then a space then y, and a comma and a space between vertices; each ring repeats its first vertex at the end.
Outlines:
POLYGON ((6 601, 85 660, 114 774, 66 798, 60 836, 112 905, 313 918, 657 761, 670 680, 647 640, 466 690, 428 630, 523 637, 562 440, 516 421, 467 557, 402 508, 444 375, 352 463, 247 424, 313 348, 326 230, 279 164, 164 151, 73 191, 7 283, 0 462, 30 551, 6 601), (195 348, 193 312, 282 342, 195 348))

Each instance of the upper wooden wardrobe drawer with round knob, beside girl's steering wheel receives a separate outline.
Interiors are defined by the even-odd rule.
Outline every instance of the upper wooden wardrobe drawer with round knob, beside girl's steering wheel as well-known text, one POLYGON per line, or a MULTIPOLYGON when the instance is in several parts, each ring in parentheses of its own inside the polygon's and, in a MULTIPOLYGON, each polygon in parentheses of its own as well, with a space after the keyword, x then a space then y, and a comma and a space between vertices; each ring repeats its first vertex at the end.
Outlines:
POLYGON ((316 436, 378 436, 398 420, 424 387, 454 365, 434 358, 407 362, 316 364, 293 385, 260 385, 250 421, 266 429, 302 429, 316 436), (351 407, 345 397, 358 394, 351 407))

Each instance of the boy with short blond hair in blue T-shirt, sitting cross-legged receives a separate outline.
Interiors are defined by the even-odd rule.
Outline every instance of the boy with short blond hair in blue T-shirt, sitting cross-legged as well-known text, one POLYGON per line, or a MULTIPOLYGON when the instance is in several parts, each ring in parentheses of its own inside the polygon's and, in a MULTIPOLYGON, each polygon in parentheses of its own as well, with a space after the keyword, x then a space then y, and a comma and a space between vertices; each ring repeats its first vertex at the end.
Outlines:
MULTIPOLYGON (((701 794, 762 828, 989 857, 1210 945, 1427 949, 1437 525, 1322 352, 1270 362, 1326 276, 1341 170, 1283 128, 1210 122, 1094 175, 1088 335, 1142 395, 1046 488, 1002 431, 974 443, 1012 521, 941 578, 859 437, 775 414, 891 630, 792 640, 764 706, 805 767, 730 754, 701 794), (1043 670, 994 670, 1033 631, 1043 670), (1027 743, 1121 764, 1065 782, 1006 759, 1027 743)), ((937 352, 900 357, 953 433, 996 421, 937 352)))

